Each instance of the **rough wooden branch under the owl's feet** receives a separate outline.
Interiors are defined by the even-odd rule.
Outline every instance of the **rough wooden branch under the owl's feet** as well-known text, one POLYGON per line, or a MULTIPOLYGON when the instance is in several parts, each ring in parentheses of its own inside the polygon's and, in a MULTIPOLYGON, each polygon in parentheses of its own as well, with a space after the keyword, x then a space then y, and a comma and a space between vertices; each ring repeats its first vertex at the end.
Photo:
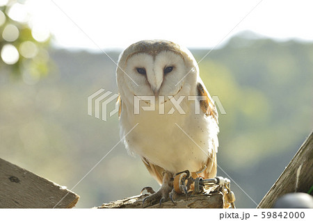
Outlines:
MULTIPOLYGON (((108 204, 102 204, 96 208, 143 208, 143 199, 148 195, 137 195, 134 197, 128 197, 126 199, 120 199, 108 204)), ((171 201, 163 202, 161 208, 228 208, 229 204, 224 201, 223 193, 217 191, 214 193, 191 195, 186 197, 185 195, 179 195, 175 197, 175 206, 171 201)), ((160 208, 159 204, 153 206, 147 206, 146 208, 160 208)))

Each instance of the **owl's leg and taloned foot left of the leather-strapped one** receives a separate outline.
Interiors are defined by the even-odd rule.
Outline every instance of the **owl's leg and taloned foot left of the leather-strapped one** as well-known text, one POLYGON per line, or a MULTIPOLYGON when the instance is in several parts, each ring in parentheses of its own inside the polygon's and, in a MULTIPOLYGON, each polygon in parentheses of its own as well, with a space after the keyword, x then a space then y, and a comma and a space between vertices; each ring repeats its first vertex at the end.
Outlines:
POLYGON ((159 202, 161 206, 162 202, 166 202, 170 195, 170 192, 172 191, 172 176, 173 174, 171 172, 165 171, 163 173, 161 188, 157 191, 157 193, 153 193, 152 195, 147 196, 145 197, 145 199, 143 199, 143 208, 154 205, 157 202, 159 202))

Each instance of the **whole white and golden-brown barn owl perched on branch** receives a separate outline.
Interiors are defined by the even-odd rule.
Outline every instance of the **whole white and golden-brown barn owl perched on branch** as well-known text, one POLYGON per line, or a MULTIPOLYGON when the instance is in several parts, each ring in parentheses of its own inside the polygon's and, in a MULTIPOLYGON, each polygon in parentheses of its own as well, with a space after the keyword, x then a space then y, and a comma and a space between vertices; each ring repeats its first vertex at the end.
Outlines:
POLYGON ((116 75, 120 136, 161 185, 157 193, 146 188, 144 203, 168 199, 179 172, 216 177, 218 113, 191 52, 166 40, 136 42, 120 55, 116 75))

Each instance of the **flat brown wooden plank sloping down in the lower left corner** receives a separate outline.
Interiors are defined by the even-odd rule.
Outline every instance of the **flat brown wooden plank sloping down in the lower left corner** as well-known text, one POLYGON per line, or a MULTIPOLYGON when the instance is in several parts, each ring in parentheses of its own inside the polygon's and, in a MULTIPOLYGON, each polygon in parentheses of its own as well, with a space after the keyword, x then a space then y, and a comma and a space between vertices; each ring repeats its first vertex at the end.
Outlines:
POLYGON ((63 186, 0 158, 0 208, 72 208, 78 200, 63 186))

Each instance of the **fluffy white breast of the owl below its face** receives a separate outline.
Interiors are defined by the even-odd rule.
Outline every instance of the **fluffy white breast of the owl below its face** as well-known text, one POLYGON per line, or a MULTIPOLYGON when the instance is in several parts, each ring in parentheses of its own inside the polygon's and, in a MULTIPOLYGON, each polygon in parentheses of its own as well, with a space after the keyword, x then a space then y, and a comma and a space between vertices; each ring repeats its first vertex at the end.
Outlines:
POLYGON ((177 110, 168 114, 170 107, 164 114, 157 108, 138 115, 125 111, 120 118, 122 134, 138 123, 125 138, 129 152, 172 173, 200 170, 214 148, 211 140, 216 125, 209 117, 195 114, 192 101, 184 101, 182 106, 185 114, 177 110))

